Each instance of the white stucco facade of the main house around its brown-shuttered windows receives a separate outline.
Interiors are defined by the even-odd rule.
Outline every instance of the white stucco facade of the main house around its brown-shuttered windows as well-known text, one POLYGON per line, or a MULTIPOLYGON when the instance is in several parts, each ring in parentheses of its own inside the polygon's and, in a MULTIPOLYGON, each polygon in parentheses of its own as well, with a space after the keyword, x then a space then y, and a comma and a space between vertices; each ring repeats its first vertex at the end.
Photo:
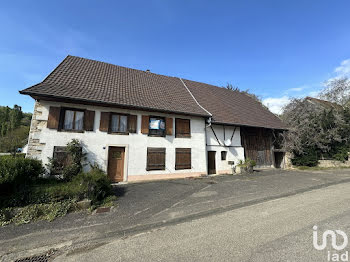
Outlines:
POLYGON ((135 175, 148 174, 174 174, 201 172, 206 173, 206 154, 205 154, 205 121, 201 117, 189 117, 181 115, 171 115, 157 112, 145 112, 127 109, 104 108, 97 106, 72 105, 56 103, 50 101, 40 101, 37 104, 37 110, 41 113, 36 116, 36 120, 48 119, 50 106, 67 106, 82 108, 95 111, 94 131, 85 131, 84 133, 58 132, 48 129, 45 122, 40 127, 41 132, 33 134, 34 139, 39 139, 42 146, 42 153, 39 158, 43 164, 48 162, 48 157, 53 156, 54 146, 65 146, 73 138, 79 139, 83 143, 84 151, 87 153, 87 160, 90 163, 99 164, 104 170, 107 169, 108 146, 125 147, 125 169, 124 180, 135 175), (137 115, 137 133, 129 135, 107 134, 99 131, 101 112, 118 112, 137 115), (150 137, 141 134, 141 116, 157 115, 173 118, 173 135, 166 137, 150 137), (175 118, 186 118, 191 120, 191 138, 175 138, 175 118), (166 170, 146 171, 147 147, 165 147, 166 148, 166 170), (191 148, 192 150, 192 169, 175 170, 175 148, 191 148))

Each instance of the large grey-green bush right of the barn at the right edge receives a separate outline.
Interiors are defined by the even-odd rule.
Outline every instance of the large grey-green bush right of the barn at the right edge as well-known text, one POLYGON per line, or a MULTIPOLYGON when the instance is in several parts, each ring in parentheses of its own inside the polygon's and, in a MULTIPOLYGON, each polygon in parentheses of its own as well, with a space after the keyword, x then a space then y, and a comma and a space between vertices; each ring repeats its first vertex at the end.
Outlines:
POLYGON ((289 126, 286 149, 295 166, 313 167, 319 161, 345 163, 350 151, 350 80, 334 79, 317 99, 292 99, 282 119, 289 126))

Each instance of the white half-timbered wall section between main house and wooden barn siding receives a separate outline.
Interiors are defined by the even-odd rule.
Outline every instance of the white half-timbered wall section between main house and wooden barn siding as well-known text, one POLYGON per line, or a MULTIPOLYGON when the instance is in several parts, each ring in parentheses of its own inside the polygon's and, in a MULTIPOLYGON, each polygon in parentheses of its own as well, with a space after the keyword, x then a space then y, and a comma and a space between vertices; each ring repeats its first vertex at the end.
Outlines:
POLYGON ((238 164, 239 160, 244 160, 244 148, 241 145, 241 134, 240 128, 234 126, 222 126, 222 125, 212 125, 212 128, 219 140, 215 138, 214 132, 210 127, 207 127, 207 151, 216 151, 215 162, 216 162, 216 172, 226 173, 231 172, 231 165, 228 161, 234 161, 235 165, 238 164), (232 137, 232 134, 234 135, 232 137), (231 139, 232 143, 230 146, 224 146, 225 139, 231 139), (227 151, 226 160, 221 160, 221 151, 227 151))

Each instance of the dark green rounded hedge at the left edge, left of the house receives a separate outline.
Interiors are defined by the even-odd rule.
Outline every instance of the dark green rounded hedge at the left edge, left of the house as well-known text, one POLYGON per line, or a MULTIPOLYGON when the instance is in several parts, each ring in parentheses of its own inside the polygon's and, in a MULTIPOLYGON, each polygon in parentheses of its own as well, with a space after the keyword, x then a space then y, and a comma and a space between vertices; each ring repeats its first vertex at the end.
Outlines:
POLYGON ((44 174, 41 161, 21 157, 0 158, 0 189, 18 190, 44 174))

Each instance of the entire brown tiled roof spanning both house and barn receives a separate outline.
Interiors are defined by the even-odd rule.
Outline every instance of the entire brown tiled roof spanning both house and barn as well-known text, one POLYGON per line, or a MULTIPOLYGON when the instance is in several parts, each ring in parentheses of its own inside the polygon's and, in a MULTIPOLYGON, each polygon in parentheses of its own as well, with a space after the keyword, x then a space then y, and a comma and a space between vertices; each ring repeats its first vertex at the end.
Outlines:
POLYGON ((204 117, 212 114, 213 123, 285 129, 277 116, 244 93, 74 56, 67 56, 41 83, 20 93, 204 117))

